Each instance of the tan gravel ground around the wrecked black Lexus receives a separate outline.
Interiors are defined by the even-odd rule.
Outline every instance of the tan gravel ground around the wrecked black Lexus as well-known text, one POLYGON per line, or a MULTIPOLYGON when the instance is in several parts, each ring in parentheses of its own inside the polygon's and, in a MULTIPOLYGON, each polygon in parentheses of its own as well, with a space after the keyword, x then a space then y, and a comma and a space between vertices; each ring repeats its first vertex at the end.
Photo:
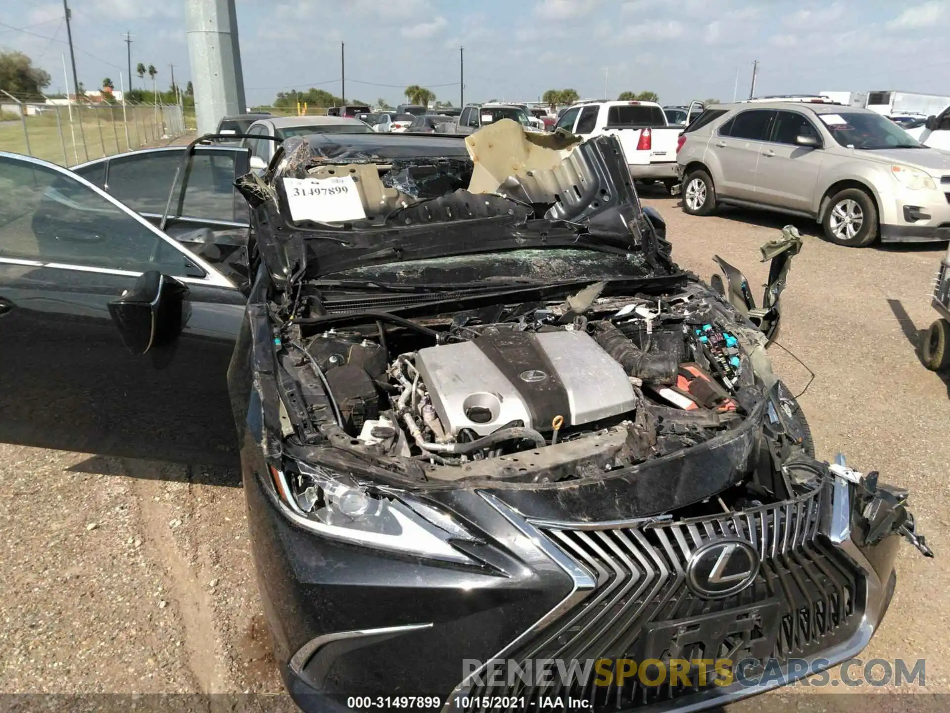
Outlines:
MULTIPOLYGON (((768 266, 758 262, 758 246, 795 222, 737 210, 693 218, 649 189, 644 202, 669 221, 675 259, 704 279, 719 254, 761 284, 768 266)), ((934 695, 950 692, 950 574, 940 564, 950 551, 950 378, 927 372, 915 345, 935 317, 928 290, 942 245, 853 250, 797 224, 805 247, 788 277, 779 342, 815 373, 800 401, 819 455, 844 451, 855 468, 879 470, 883 480, 909 488, 919 530, 938 553, 925 560, 902 547, 897 594, 862 658, 926 659, 926 685, 913 686, 924 695, 912 702, 813 699, 800 694, 816 689, 799 685, 731 710, 938 706, 934 695)), ((770 351, 792 390, 804 389, 806 369, 781 349, 770 351)), ((0 552, 0 694, 252 693, 257 697, 228 698, 224 707, 291 708, 276 695, 282 686, 257 598, 237 472, 0 444, 0 552)), ((821 689, 855 690, 907 688, 821 689)), ((38 701, 0 698, 0 708, 26 709, 31 700, 38 701)), ((217 707, 199 696, 141 700, 159 702, 141 708, 217 707)), ((130 707, 101 696, 57 701, 130 707)))

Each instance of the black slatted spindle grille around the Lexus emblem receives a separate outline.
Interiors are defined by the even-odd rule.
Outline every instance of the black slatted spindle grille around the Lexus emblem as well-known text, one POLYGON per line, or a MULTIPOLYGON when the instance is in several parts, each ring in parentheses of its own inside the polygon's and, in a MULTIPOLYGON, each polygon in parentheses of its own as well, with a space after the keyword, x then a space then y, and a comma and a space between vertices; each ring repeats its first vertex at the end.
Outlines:
MULTIPOLYGON (((827 497, 821 489, 779 505, 676 523, 539 526, 597 585, 580 605, 508 658, 522 663, 601 658, 784 661, 846 640, 859 619, 854 615, 861 585, 845 557, 819 534, 827 497), (686 586, 687 564, 693 551, 720 538, 750 543, 761 567, 750 586, 737 594, 703 599, 686 586)), ((675 685, 647 687, 628 678, 622 686, 596 686, 591 676, 587 684, 546 688, 519 682, 501 690, 476 686, 471 695, 523 696, 535 702, 560 695, 565 701, 591 701, 598 710, 616 710, 700 690, 698 670, 687 676, 689 685, 680 679, 675 685)))

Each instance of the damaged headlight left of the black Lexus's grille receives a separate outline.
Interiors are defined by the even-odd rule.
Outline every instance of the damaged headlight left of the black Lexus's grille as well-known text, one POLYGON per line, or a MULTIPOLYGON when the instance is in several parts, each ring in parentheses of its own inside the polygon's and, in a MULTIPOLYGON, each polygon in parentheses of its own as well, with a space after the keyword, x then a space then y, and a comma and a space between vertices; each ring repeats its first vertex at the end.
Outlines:
POLYGON ((281 511, 306 530, 364 547, 475 564, 450 541, 476 538, 446 512, 299 461, 270 471, 281 511))

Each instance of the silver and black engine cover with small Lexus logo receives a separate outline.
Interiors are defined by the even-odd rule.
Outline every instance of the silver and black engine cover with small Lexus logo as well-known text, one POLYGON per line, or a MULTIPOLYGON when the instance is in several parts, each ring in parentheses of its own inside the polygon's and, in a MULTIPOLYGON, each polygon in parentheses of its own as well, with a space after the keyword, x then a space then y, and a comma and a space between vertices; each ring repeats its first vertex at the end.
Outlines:
POLYGON ((491 434, 513 420, 537 431, 633 411, 623 368, 583 332, 497 332, 420 349, 416 368, 450 434, 491 434))

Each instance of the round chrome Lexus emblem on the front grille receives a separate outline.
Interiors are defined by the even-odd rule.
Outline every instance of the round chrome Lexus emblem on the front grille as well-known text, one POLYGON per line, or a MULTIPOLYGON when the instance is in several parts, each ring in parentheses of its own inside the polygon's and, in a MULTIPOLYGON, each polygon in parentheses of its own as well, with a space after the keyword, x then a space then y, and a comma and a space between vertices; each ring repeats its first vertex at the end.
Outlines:
POLYGON ((721 599, 749 587, 758 571, 758 552, 748 542, 713 540, 693 552, 686 584, 704 599, 721 599))

